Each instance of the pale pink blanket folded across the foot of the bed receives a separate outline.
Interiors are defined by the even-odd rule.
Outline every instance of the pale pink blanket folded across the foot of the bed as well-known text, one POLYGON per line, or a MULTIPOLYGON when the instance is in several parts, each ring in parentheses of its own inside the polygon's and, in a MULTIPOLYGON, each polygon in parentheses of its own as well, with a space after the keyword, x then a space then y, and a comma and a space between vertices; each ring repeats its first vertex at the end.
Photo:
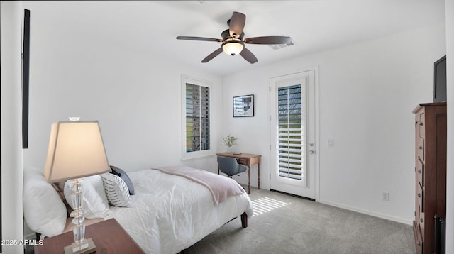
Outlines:
POLYGON ((160 170, 170 175, 186 177, 189 180, 204 185, 204 187, 209 189, 211 195, 213 195, 214 204, 219 204, 230 196, 245 192, 243 187, 235 180, 205 170, 196 170, 186 166, 159 167, 155 168, 155 170, 160 170))

